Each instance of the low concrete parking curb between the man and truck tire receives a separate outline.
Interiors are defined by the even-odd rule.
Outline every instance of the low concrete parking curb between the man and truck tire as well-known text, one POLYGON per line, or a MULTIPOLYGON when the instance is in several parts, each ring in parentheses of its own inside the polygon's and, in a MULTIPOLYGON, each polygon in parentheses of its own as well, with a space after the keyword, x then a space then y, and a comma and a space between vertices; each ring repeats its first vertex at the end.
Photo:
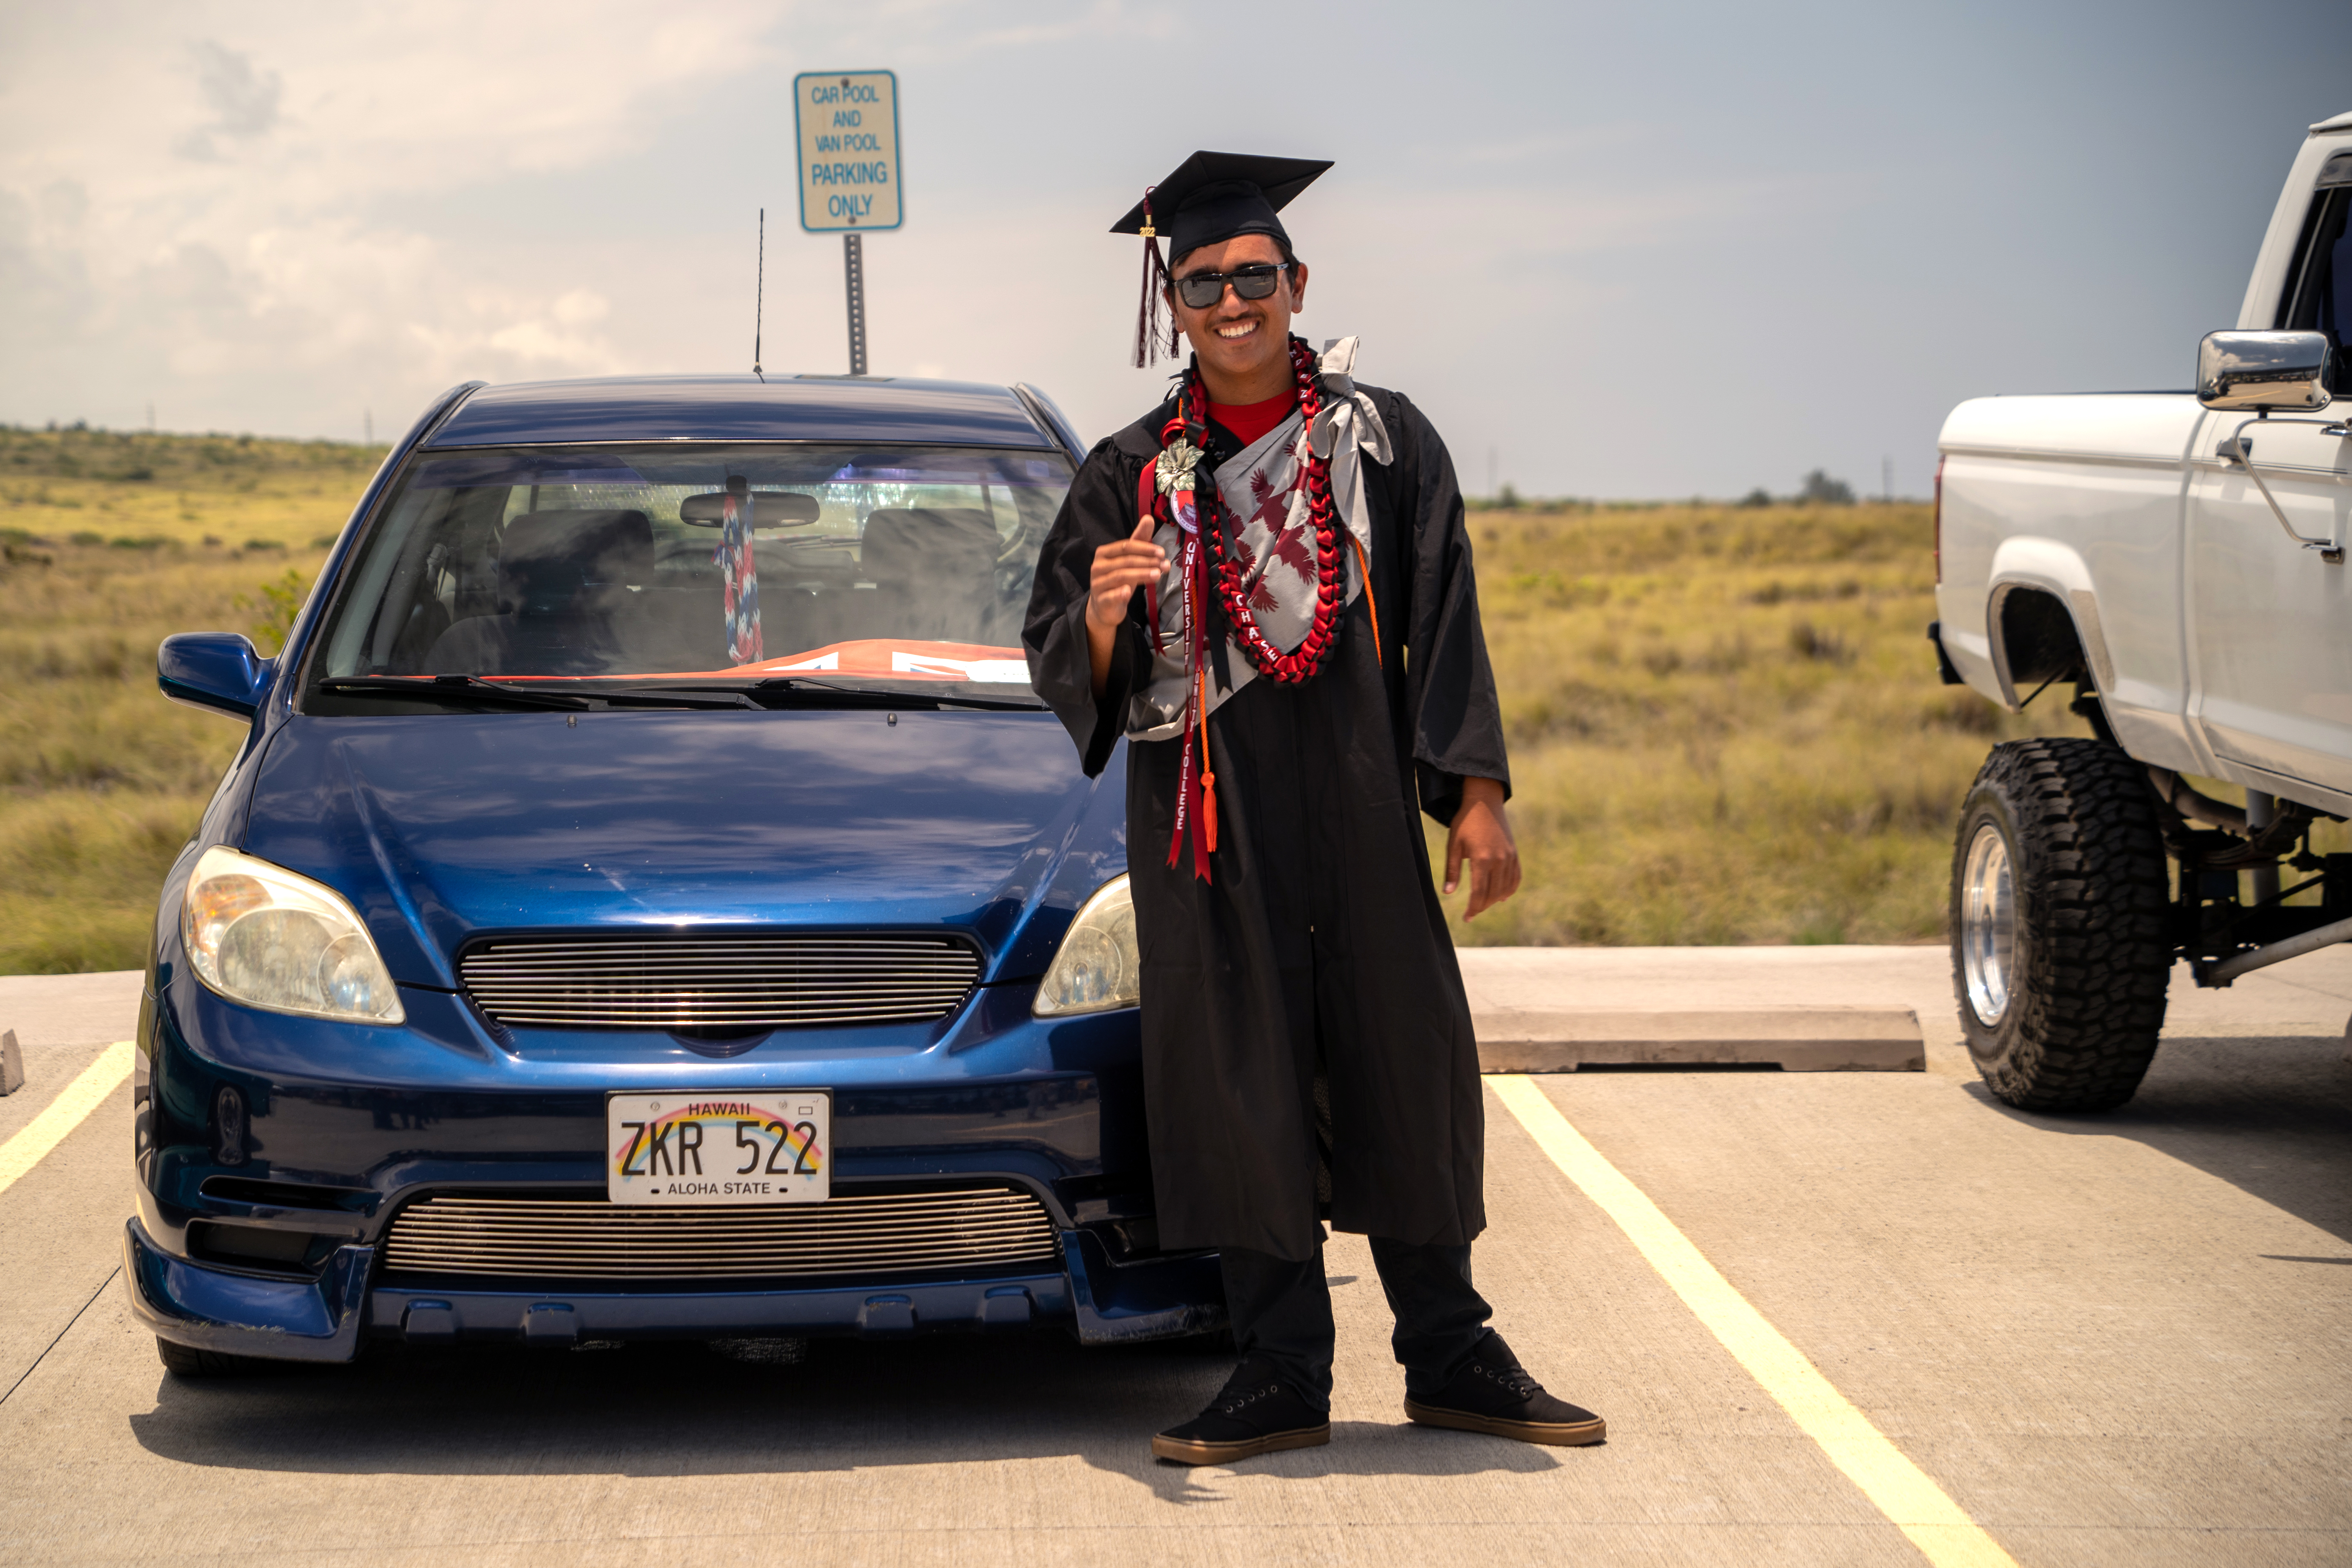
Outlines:
POLYGON ((1769 1065, 1783 1072, 1926 1072, 1907 1006, 1691 1011, 1472 1009, 1479 1072, 1769 1065))

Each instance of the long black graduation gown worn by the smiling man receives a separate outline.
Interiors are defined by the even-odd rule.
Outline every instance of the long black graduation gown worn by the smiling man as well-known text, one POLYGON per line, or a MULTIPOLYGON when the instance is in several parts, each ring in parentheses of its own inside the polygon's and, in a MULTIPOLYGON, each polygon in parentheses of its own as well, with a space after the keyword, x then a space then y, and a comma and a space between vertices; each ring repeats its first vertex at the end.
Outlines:
MULTIPOLYGON (((1395 449, 1390 465, 1362 465, 1383 646, 1357 595, 1312 679, 1258 677, 1209 717, 1214 882, 1195 879, 1190 853, 1167 865, 1183 741, 1129 745, 1127 863, 1167 1248, 1303 1260, 1322 1241, 1319 1213, 1418 1244, 1468 1244, 1486 1227, 1477 1041, 1416 804, 1451 823, 1465 776, 1508 780, 1503 722, 1454 463, 1414 404, 1362 390, 1395 449)), ((1136 484, 1169 411, 1087 456, 1037 562, 1030 672, 1089 776, 1150 670, 1138 592, 1096 701, 1089 569, 1096 545, 1134 531, 1136 484)), ((1237 451, 1211 425, 1202 477, 1237 451)))

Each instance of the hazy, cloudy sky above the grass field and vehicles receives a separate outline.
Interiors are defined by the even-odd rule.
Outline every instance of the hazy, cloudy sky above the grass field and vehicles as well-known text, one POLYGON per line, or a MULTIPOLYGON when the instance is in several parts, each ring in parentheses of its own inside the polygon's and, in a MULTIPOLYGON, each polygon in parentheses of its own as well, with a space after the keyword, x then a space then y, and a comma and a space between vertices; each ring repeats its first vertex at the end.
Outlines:
POLYGON ((0 9, 0 421, 379 440, 459 381, 847 369, 793 75, 898 73, 870 369, 1152 407, 1190 150, 1331 158, 1298 331, 1463 489, 1926 494, 1950 407, 2180 388, 2234 324, 2343 0, 670 0, 0 9))

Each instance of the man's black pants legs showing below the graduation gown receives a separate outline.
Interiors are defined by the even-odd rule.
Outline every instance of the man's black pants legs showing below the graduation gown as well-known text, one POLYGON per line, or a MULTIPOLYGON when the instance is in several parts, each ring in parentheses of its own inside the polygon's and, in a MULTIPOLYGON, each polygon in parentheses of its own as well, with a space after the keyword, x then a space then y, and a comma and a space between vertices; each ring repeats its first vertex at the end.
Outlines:
MULTIPOLYGON (((1270 1361, 1308 1403, 1331 1408, 1331 1286, 1322 1246, 1305 1262, 1228 1246, 1225 1309, 1244 1359, 1270 1361)), ((1371 1262, 1397 1316, 1390 1345, 1404 1366, 1404 1392, 1435 1394, 1461 1371, 1491 1328, 1494 1307, 1470 1286, 1468 1246, 1411 1246, 1371 1237, 1371 1262)))

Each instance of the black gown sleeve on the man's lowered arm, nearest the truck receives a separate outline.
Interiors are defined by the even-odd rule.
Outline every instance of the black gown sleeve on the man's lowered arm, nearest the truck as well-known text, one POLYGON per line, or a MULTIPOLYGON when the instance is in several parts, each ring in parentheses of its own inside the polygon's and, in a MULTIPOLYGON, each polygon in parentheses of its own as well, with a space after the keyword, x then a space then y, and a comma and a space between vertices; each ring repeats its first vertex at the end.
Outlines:
MULTIPOLYGON (((1395 517, 1409 529, 1404 569, 1411 576, 1406 644, 1406 717, 1421 809, 1454 823, 1463 778, 1494 778, 1510 797, 1510 757, 1503 745, 1503 705, 1486 663, 1470 569, 1470 527, 1454 458, 1430 421, 1390 393, 1388 428, 1399 447, 1390 470, 1395 517)), ((1388 414, 1388 409, 1383 409, 1388 414)))

